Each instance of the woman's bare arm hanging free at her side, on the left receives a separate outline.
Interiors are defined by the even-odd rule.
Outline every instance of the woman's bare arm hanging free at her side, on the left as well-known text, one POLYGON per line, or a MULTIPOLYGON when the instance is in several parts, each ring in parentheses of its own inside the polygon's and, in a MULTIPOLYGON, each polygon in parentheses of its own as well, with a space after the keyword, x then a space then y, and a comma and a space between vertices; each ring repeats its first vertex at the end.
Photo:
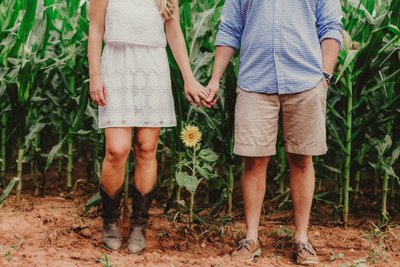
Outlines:
POLYGON ((99 106, 107 104, 107 89, 100 75, 101 49, 107 4, 108 0, 92 0, 90 3, 88 45, 90 97, 99 106))

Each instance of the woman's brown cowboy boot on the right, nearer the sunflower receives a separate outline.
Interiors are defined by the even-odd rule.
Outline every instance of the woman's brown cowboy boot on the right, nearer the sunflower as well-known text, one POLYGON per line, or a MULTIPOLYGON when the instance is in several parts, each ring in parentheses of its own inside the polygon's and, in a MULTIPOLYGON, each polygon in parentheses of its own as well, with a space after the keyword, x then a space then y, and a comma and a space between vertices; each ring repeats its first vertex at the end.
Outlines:
POLYGON ((132 225, 128 238, 128 251, 140 254, 146 248, 146 226, 149 221, 149 209, 154 198, 155 189, 142 195, 133 187, 132 225))

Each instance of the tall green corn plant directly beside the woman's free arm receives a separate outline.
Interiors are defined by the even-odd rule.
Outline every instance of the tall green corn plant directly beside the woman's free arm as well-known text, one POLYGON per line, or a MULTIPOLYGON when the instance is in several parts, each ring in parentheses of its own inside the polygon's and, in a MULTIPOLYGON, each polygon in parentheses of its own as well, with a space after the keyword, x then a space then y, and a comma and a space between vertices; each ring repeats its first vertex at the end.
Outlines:
POLYGON ((54 157, 59 156, 63 146, 67 144, 67 190, 72 188, 74 137, 85 136, 90 132, 90 130, 82 129, 88 106, 89 91, 85 57, 87 39, 83 38, 87 36, 87 22, 80 20, 76 14, 86 16, 86 5, 81 6, 79 0, 63 4, 62 8, 55 12, 58 20, 69 21, 70 23, 62 24, 60 29, 54 29, 54 31, 61 32, 62 42, 59 44, 61 54, 58 56, 62 60, 55 62, 53 66, 59 81, 53 85, 54 94, 51 92, 47 94, 57 107, 54 118, 63 121, 59 126, 59 134, 64 136, 50 151, 46 161, 46 169, 50 167, 54 157), (81 45, 81 42, 83 45, 81 45), (67 95, 65 93, 59 94, 59 92, 65 91, 68 92, 67 95), (63 129, 65 130, 64 133, 63 129))

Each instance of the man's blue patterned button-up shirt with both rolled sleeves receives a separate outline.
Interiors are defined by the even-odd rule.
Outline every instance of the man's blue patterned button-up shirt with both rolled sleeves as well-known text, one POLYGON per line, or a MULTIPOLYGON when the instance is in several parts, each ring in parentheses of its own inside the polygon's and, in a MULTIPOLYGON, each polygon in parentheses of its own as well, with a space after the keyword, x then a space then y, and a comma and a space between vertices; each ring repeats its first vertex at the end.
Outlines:
POLYGON ((226 0, 216 45, 240 47, 238 86, 298 93, 323 77, 321 42, 342 43, 339 0, 226 0))

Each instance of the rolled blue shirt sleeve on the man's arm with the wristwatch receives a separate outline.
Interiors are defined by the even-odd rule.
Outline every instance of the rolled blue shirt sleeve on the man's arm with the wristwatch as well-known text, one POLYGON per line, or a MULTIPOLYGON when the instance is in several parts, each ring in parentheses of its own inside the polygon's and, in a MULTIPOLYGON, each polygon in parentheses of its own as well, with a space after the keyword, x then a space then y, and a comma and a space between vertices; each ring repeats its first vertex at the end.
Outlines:
POLYGON ((320 43, 334 39, 342 47, 343 12, 340 0, 319 0, 317 7, 317 28, 320 43))

